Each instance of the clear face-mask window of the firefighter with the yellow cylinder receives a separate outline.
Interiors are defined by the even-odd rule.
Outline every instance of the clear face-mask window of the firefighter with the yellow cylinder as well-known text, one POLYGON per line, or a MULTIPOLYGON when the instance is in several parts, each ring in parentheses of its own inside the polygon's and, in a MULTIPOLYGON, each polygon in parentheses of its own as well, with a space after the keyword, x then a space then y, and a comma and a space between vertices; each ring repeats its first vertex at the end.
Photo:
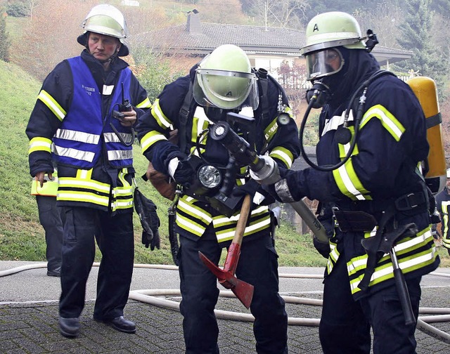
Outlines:
POLYGON ((319 79, 335 74, 342 69, 344 58, 336 48, 328 48, 306 55, 307 80, 319 79))

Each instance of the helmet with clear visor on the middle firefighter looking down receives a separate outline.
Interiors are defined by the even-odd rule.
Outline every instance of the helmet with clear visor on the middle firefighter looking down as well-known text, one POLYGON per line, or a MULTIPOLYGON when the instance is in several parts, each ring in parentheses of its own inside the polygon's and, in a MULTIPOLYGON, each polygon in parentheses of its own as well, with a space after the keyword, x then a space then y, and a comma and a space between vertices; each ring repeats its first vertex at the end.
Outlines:
POLYGON ((237 110, 257 109, 259 96, 257 77, 247 54, 233 44, 218 46, 195 70, 195 101, 203 107, 237 110))

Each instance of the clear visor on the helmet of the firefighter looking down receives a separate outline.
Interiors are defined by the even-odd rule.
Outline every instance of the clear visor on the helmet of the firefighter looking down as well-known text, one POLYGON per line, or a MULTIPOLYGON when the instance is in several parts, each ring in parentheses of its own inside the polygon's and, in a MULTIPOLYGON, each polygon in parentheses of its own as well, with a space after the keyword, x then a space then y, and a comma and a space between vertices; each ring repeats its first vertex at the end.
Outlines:
POLYGON ((193 86, 195 101, 205 107, 236 110, 259 104, 256 75, 248 72, 232 72, 198 68, 193 86))

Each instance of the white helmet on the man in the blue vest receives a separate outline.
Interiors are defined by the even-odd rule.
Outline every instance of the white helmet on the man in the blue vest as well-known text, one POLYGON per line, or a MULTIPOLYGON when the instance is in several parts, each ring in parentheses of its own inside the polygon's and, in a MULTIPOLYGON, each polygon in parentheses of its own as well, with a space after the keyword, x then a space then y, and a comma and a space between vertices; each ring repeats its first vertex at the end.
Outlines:
POLYGON ((129 54, 127 46, 127 22, 124 15, 113 5, 101 4, 94 6, 82 22, 84 33, 77 38, 82 46, 87 45, 87 32, 104 34, 105 36, 118 38, 122 46, 117 53, 119 56, 129 54))

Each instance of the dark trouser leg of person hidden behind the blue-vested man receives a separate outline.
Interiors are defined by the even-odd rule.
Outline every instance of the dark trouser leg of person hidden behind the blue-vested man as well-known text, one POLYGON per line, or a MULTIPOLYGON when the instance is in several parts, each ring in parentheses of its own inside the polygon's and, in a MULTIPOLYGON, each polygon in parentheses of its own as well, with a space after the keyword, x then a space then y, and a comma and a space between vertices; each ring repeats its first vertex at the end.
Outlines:
POLYGON ((39 222, 45 231, 47 270, 59 272, 63 247, 62 209, 56 206, 56 197, 36 196, 39 222))

